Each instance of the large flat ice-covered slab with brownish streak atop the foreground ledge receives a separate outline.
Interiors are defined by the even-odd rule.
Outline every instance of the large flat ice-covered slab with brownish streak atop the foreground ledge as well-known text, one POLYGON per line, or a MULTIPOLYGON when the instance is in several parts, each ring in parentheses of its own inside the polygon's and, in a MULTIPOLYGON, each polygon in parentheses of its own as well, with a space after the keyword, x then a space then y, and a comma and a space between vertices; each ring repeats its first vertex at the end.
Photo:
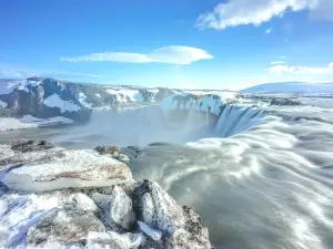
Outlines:
MULTIPOLYGON (((16 163, 21 166, 10 170, 1 179, 12 189, 43 191, 70 187, 104 187, 132 180, 127 165, 90 151, 51 148, 33 152, 30 156, 18 153, 12 157, 20 158, 16 163)), ((6 160, 8 163, 8 158, 6 160)))

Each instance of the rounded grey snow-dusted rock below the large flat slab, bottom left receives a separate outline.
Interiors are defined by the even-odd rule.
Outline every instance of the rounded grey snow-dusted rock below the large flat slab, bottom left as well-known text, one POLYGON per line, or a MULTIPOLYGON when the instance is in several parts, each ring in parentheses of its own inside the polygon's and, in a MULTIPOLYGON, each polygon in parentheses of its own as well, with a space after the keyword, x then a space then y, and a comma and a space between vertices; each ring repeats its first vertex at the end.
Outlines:
POLYGON ((27 242, 41 246, 46 242, 71 245, 84 242, 90 231, 104 232, 104 225, 91 211, 71 205, 48 211, 27 232, 27 242))

